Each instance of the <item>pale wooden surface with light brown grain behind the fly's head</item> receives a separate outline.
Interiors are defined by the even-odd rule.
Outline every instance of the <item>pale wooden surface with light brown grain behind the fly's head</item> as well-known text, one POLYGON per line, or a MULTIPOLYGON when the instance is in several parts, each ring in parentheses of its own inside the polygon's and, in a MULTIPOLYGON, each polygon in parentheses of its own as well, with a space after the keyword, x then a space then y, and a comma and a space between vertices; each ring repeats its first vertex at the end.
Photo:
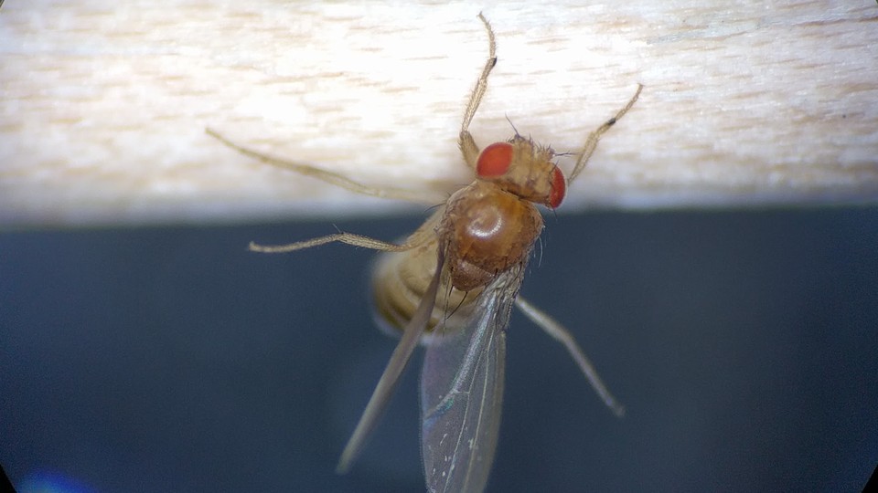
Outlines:
POLYGON ((481 145, 509 138, 509 117, 576 152, 646 86, 562 211, 878 197, 872 1, 10 0, 0 10, 0 226, 402 206, 255 163, 208 126, 363 183, 453 191, 471 177, 455 140, 487 53, 479 8, 499 58, 471 129, 481 145))

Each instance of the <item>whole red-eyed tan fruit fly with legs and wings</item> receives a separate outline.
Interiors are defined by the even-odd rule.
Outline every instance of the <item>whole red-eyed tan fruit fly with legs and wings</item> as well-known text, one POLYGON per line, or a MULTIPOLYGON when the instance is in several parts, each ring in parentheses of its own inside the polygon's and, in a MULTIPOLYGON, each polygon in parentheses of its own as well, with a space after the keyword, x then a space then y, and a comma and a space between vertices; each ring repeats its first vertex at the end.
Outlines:
MULTIPOLYGON (((385 252, 373 276, 374 301, 380 317, 402 330, 402 336, 342 452, 339 473, 348 471, 359 455, 422 341, 426 353, 421 373, 421 447, 427 489, 482 491, 497 447, 506 330, 513 305, 562 342, 615 414, 625 412, 571 333, 519 296, 525 266, 543 227, 536 205, 550 209, 561 205, 567 180, 552 162, 551 147, 518 132, 508 142, 479 151, 469 125, 497 63, 497 47, 487 19, 478 17, 487 30, 489 55, 466 105, 457 142, 464 162, 476 173, 475 181, 452 194, 398 244, 342 232, 289 245, 250 245, 255 252, 285 253, 341 242, 385 252)), ((588 134, 570 181, 582 173, 601 136, 631 109, 641 89, 638 84, 625 107, 588 134)), ((254 152, 215 131, 208 133, 264 163, 362 194, 412 198, 399 190, 370 188, 305 163, 254 152)))

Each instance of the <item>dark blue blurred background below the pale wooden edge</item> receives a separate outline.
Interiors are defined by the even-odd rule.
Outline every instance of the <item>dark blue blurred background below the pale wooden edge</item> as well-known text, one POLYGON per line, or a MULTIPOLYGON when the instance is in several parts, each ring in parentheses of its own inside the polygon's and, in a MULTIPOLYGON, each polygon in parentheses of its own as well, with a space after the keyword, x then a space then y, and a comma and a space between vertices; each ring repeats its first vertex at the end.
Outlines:
MULTIPOLYGON (((859 490, 878 462, 878 208, 547 216, 489 491, 859 490)), ((395 239, 413 217, 337 222, 395 239)), ((0 235, 0 463, 19 491, 423 491, 420 354, 337 458, 395 341, 333 224, 0 235), (28 489, 30 488, 30 489, 28 489)))

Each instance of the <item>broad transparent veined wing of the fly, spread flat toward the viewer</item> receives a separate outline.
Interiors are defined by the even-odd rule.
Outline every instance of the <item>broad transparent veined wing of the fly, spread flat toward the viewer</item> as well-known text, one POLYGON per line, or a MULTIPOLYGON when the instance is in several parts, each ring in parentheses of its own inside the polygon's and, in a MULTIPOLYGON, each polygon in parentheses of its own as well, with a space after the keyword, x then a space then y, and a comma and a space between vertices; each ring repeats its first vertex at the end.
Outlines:
POLYGON ((421 373, 421 449, 431 492, 485 488, 500 426, 509 312, 523 267, 498 275, 464 327, 436 329, 421 373))

